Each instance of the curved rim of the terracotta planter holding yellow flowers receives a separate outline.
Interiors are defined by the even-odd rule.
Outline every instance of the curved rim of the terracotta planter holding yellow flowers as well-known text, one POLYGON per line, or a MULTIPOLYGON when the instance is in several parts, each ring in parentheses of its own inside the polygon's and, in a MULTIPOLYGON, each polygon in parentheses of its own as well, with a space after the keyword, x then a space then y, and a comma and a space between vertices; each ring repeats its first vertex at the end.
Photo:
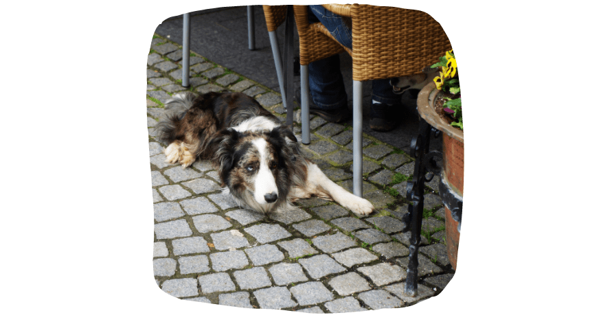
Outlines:
POLYGON ((438 97, 442 92, 438 89, 435 89, 435 83, 431 82, 423 87, 423 89, 418 93, 418 97, 416 98, 416 106, 418 107, 418 114, 422 119, 433 126, 435 129, 441 130, 449 137, 456 139, 457 141, 463 141, 463 130, 459 128, 455 128, 450 124, 446 123, 440 115, 435 113, 433 110, 433 103, 435 102, 435 98, 438 97))

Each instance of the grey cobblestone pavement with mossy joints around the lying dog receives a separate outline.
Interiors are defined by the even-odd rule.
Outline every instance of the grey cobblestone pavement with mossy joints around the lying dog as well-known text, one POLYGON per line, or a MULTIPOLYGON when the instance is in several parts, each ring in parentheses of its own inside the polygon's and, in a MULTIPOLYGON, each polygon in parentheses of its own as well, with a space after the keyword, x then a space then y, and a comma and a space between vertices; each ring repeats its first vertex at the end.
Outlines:
MULTIPOLYGON (((298 312, 356 312, 413 305, 439 294, 453 277, 446 256, 438 178, 428 183, 419 249, 418 296, 403 294, 409 233, 402 233, 405 192, 414 161, 364 135, 363 197, 376 213, 355 215, 311 198, 271 216, 240 209, 221 194, 216 171, 198 161, 183 170, 164 162, 153 127, 175 93, 241 91, 284 119, 279 93, 197 54, 190 88, 181 86, 181 48, 159 35, 147 60, 147 126, 155 240, 153 269, 164 292, 180 299, 298 312)), ((299 138, 300 115, 294 131, 299 138)), ((303 146, 332 181, 352 190, 352 127, 310 120, 303 146)))

